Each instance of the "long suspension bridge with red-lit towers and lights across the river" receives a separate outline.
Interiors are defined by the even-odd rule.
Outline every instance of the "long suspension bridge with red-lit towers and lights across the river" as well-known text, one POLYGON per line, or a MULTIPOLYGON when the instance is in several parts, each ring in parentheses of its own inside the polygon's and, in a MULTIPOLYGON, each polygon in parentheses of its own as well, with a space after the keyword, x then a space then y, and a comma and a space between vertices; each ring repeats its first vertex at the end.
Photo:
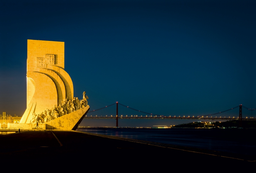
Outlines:
POLYGON ((84 119, 193 119, 193 120, 256 120, 256 108, 249 109, 243 105, 203 116, 163 116, 130 108, 121 103, 89 111, 84 119))

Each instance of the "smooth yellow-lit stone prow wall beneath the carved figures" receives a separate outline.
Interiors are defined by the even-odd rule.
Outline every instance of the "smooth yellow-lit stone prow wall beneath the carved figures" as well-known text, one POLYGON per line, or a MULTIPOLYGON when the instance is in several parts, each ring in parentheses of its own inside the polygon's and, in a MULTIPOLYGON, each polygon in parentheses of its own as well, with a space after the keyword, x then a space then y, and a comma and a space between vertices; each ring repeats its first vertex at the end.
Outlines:
POLYGON ((83 120, 84 116, 89 111, 89 105, 78 109, 74 112, 71 112, 67 115, 63 115, 62 117, 56 118, 46 123, 46 129, 52 130, 76 130, 78 125, 83 120))

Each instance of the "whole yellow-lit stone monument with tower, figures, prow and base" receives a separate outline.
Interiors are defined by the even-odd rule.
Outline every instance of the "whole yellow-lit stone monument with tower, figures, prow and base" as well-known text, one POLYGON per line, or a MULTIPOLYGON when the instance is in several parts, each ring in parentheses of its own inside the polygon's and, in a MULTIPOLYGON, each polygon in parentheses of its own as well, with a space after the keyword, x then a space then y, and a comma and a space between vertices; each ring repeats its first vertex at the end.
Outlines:
POLYGON ((64 70, 64 42, 28 40, 27 109, 10 127, 75 130, 90 109, 85 95, 74 98, 73 83, 64 70))

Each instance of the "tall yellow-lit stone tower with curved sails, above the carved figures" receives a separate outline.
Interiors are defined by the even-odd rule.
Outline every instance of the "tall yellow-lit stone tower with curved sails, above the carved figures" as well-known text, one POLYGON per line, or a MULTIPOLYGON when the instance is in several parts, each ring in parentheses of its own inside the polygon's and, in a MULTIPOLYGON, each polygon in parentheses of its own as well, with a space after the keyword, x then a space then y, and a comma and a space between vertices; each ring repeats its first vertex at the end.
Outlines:
POLYGON ((29 123, 32 114, 72 100, 73 83, 64 70, 64 42, 28 40, 27 109, 20 123, 29 123))

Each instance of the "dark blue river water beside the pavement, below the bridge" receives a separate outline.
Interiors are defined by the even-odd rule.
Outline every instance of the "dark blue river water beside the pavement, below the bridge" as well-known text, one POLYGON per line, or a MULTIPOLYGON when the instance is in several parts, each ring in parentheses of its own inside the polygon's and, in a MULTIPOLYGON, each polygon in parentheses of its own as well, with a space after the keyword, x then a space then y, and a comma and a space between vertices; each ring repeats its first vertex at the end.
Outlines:
POLYGON ((79 131, 237 154, 256 154, 256 129, 80 128, 79 131))

